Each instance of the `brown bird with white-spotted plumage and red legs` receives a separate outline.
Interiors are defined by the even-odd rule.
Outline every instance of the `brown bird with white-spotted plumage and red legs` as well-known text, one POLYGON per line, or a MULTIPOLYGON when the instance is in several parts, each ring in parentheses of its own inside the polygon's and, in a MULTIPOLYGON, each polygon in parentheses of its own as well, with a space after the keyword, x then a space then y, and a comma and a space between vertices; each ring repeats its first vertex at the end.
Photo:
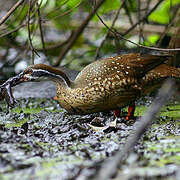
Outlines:
POLYGON ((51 80, 57 100, 73 114, 118 110, 129 106, 127 120, 134 116, 135 101, 161 86, 169 77, 179 79, 180 68, 166 64, 169 56, 129 53, 97 60, 79 72, 74 81, 60 69, 45 64, 27 67, 23 80, 51 80))

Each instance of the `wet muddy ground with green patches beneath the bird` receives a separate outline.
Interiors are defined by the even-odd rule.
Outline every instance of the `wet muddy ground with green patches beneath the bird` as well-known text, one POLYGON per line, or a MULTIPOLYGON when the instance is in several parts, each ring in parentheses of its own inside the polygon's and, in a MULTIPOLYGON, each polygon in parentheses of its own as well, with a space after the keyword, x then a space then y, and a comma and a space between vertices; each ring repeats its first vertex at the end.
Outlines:
MULTIPOLYGON (((137 122, 118 118, 117 126, 109 128, 112 113, 70 115, 53 100, 53 85, 46 93, 28 98, 32 93, 24 91, 26 99, 18 99, 19 105, 7 115, 5 103, 0 104, 0 179, 93 179, 102 161, 123 147, 137 122)), ((21 91, 15 96, 22 98, 21 91)), ((136 115, 150 103, 140 101, 136 115)), ((115 179, 180 179, 178 101, 163 108, 115 179)))

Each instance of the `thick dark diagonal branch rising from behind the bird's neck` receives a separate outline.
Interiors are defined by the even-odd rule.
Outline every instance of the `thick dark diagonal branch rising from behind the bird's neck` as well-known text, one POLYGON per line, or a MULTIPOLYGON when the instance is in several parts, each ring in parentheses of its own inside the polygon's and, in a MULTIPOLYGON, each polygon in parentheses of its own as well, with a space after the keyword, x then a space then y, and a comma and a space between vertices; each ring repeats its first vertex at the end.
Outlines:
POLYGON ((92 19, 98 8, 105 2, 105 0, 99 0, 96 7, 93 9, 92 12, 86 17, 86 19, 83 21, 83 23, 80 25, 80 27, 74 32, 72 38, 70 39, 69 43, 64 47, 61 54, 57 58, 54 66, 59 66, 61 63, 61 60, 66 56, 68 51, 71 49, 71 47, 74 45, 78 37, 81 35, 81 33, 84 31, 86 26, 88 25, 89 21, 92 19))

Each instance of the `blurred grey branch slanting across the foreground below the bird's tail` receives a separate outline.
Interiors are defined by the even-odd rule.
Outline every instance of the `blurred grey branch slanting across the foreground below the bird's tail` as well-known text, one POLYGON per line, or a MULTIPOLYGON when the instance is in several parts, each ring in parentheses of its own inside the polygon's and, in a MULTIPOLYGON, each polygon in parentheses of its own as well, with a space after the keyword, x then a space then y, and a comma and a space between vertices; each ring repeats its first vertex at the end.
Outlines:
POLYGON ((156 96, 154 102, 150 106, 147 113, 140 118, 139 124, 135 130, 135 132, 130 135, 123 146, 123 148, 115 154, 111 159, 106 160, 95 177, 97 180, 107 180, 112 178, 117 170, 124 161, 130 152, 133 150, 134 146, 137 144, 139 139, 143 136, 143 134, 147 131, 147 129, 151 126, 154 118, 157 113, 160 111, 162 106, 164 106, 167 101, 173 96, 175 83, 172 80, 167 80, 166 83, 160 89, 158 95, 156 96))

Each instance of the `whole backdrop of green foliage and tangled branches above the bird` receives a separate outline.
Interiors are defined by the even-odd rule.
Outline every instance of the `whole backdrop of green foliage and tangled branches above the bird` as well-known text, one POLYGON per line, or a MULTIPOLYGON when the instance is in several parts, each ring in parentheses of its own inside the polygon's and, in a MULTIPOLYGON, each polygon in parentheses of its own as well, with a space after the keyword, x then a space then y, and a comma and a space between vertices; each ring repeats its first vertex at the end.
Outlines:
POLYGON ((131 52, 132 48, 142 52, 146 48, 141 45, 179 47, 174 38, 179 37, 180 0, 7 3, 11 11, 1 13, 0 20, 0 75, 3 76, 7 67, 16 67, 22 61, 66 64, 81 69, 102 56, 131 52))

